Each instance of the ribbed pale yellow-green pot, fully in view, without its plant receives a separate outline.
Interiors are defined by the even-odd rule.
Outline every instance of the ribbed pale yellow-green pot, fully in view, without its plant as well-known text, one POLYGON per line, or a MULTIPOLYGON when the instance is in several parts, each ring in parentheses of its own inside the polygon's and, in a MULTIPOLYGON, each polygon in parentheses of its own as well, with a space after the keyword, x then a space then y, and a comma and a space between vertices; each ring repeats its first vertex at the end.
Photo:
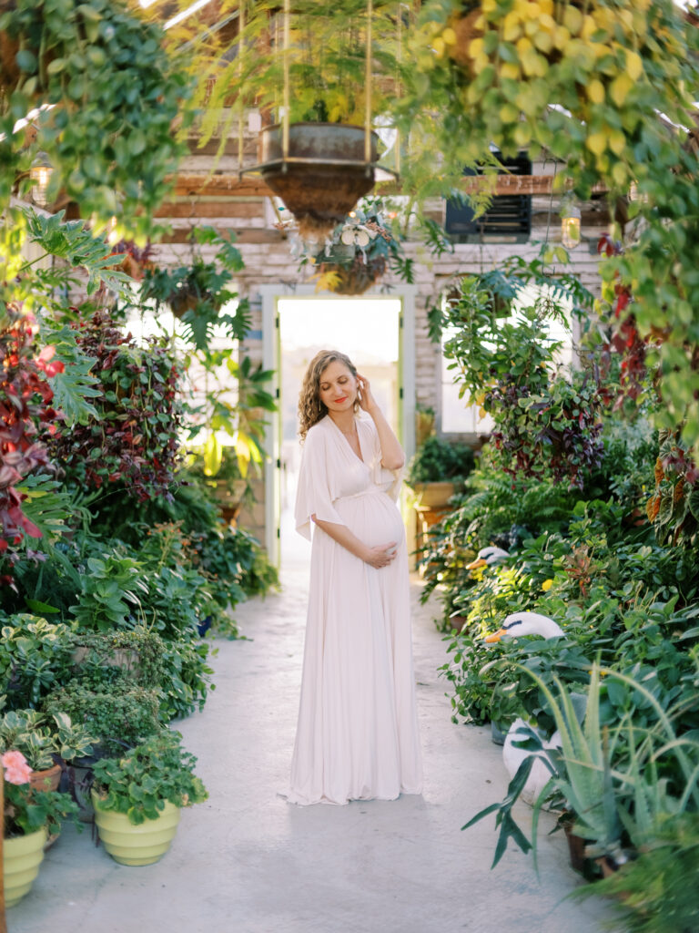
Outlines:
POLYGON ((103 810, 100 798, 92 791, 95 824, 103 846, 120 865, 152 865, 170 848, 180 822, 180 808, 165 801, 165 809, 156 819, 146 819, 134 826, 126 814, 103 810))

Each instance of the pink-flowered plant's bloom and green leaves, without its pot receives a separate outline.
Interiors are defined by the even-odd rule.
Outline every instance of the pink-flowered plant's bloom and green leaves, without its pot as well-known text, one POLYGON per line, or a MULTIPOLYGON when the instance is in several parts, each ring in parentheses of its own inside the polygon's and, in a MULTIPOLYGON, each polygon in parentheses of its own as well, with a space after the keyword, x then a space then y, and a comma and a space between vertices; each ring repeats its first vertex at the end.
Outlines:
POLYGON ((57 790, 36 790, 29 783, 32 769, 21 752, 10 750, 0 758, 5 773, 3 834, 5 839, 25 836, 56 825, 77 813, 77 805, 57 790))

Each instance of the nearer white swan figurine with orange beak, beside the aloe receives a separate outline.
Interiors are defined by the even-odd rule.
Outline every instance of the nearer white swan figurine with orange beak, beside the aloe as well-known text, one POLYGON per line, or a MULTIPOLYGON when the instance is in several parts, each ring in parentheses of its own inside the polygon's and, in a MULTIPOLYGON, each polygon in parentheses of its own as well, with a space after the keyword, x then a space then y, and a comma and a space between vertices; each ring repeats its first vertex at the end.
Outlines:
MULTIPOLYGON (((514 612, 508 616, 502 623, 500 630, 494 634, 488 635, 487 642, 498 642, 503 635, 516 638, 517 635, 542 635, 544 638, 556 638, 563 634, 563 629, 553 619, 548 616, 541 616, 538 612, 514 612)), ((520 764, 529 755, 524 748, 517 748, 514 743, 528 737, 524 730, 527 723, 524 719, 517 718, 505 736, 505 744, 502 748, 502 760, 504 762, 510 779, 517 773, 520 764), (520 730, 521 733, 520 733, 520 730), (519 734, 518 734, 519 733, 519 734)), ((550 739, 546 739, 541 731, 535 730, 541 739, 541 745, 544 748, 560 748, 560 732, 555 731, 550 739)), ((531 771, 524 786, 520 799, 533 804, 541 794, 551 773, 541 759, 536 759, 531 766, 531 771)))

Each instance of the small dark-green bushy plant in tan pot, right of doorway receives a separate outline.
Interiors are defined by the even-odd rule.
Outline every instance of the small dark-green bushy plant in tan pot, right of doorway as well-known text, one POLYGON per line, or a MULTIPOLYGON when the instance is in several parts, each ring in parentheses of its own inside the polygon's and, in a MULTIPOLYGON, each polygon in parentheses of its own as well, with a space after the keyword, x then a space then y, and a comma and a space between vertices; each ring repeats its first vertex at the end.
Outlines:
POLYGON ((457 481, 472 469, 473 448, 432 435, 411 458, 405 482, 416 494, 418 508, 444 508, 457 481))

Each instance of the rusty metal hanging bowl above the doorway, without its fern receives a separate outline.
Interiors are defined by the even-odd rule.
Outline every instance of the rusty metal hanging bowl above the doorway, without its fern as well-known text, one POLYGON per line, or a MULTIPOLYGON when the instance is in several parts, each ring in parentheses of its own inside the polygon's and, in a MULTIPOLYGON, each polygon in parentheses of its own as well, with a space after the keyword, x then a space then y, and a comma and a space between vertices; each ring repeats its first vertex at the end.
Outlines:
POLYGON ((371 133, 371 160, 364 159, 364 128, 343 123, 292 123, 284 159, 281 124, 264 127, 259 137, 259 171, 284 202, 299 231, 319 233, 341 223, 374 187, 378 136, 371 133))

